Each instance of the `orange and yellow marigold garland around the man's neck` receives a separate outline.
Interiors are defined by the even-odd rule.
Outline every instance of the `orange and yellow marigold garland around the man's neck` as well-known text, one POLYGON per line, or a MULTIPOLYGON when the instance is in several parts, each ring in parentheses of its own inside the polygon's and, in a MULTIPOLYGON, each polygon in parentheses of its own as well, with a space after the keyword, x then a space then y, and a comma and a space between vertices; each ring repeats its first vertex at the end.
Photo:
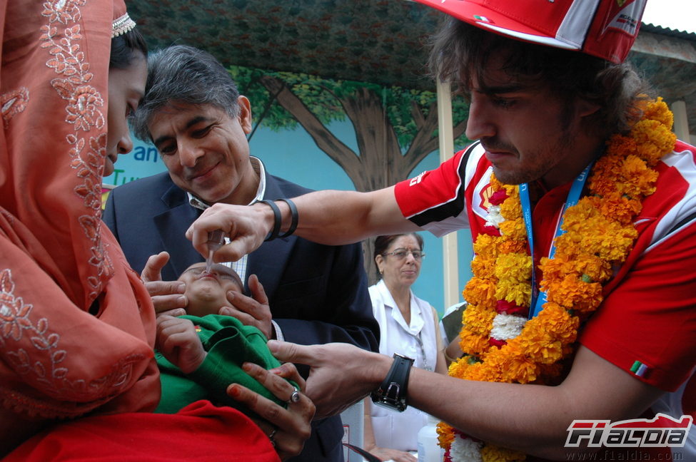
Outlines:
MULTIPOLYGON (((474 243, 473 277, 464 289, 465 354, 450 364, 450 376, 518 384, 560 379, 582 320, 599 307, 602 285, 632 250, 633 220, 655 191, 652 168, 674 150, 672 113, 662 98, 641 109, 628 135, 607 142, 588 179, 588 195, 565 212, 553 260, 540 261, 547 301, 529 321, 533 264, 518 186, 491 175, 488 220, 474 243)), ((438 433, 446 462, 525 460, 523 453, 475 440, 444 422, 438 433)))

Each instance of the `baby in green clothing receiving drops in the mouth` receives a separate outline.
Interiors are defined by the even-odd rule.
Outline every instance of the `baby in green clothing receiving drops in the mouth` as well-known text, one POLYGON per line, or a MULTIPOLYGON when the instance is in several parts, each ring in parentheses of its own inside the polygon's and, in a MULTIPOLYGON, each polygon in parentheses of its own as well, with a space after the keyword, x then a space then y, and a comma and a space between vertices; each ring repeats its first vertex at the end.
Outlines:
MULTIPOLYGON (((178 280, 186 282, 188 314, 161 315, 157 319, 155 357, 161 372, 162 398, 156 412, 171 414, 198 399, 240 409, 241 405, 226 393, 231 383, 242 384, 285 406, 286 402, 241 369, 245 361, 266 369, 280 366, 266 347, 266 336, 256 327, 218 314, 221 307, 229 306, 228 291, 243 293, 238 274, 217 264, 206 272, 206 264, 201 262, 188 267, 178 280)), ((241 410, 248 414, 248 410, 241 410)))

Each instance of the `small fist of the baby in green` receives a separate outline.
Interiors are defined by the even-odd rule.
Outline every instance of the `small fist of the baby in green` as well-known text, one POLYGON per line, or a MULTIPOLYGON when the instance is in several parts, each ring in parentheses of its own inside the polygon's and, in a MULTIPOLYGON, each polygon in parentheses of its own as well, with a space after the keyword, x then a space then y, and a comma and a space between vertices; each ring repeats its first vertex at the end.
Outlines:
POLYGON ((198 369, 208 354, 193 322, 166 314, 157 318, 156 348, 184 374, 198 369))

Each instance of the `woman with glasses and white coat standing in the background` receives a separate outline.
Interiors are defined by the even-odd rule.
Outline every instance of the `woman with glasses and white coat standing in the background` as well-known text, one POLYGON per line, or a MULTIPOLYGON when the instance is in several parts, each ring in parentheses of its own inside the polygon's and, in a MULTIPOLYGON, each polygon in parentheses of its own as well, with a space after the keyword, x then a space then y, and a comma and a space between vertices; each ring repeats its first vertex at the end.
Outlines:
MULTIPOLYGON (((369 291, 380 324, 380 353, 403 354, 415 360, 415 367, 447 374, 437 312, 410 289, 424 256, 423 237, 416 233, 375 240, 375 265, 381 280, 369 291)), ((365 399, 363 446, 383 461, 416 462, 409 451, 418 450, 418 431, 427 418, 413 407, 397 412, 365 399)))

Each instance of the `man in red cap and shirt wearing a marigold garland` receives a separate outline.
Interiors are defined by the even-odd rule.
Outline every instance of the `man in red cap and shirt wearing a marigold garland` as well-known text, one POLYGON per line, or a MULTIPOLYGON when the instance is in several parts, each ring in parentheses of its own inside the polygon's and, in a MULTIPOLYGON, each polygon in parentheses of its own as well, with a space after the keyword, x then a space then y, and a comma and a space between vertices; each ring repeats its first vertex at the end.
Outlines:
POLYGON ((235 260, 298 217, 298 235, 333 245, 468 227, 450 376, 348 345, 270 343, 313 367, 318 414, 370 392, 416 406, 442 419, 446 461, 696 460, 696 148, 623 63, 645 0, 418 1, 451 16, 430 65, 470 101, 477 141, 372 193, 311 193, 276 217, 211 209, 188 237, 206 255, 222 229, 232 242, 216 260, 235 260))

